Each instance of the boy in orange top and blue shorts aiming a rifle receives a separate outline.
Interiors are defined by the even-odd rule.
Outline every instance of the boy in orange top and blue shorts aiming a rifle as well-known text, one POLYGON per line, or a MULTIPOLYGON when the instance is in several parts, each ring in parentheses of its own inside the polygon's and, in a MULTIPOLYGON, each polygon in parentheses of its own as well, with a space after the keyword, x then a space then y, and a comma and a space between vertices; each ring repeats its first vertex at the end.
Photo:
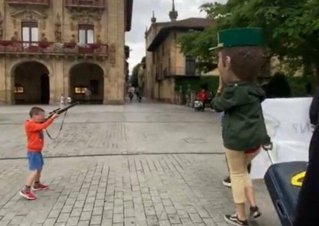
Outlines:
POLYGON ((28 200, 36 199, 31 192, 33 190, 47 190, 49 186, 40 183, 41 171, 44 165, 42 149, 44 144, 43 129, 47 128, 58 117, 58 114, 52 115, 49 120, 45 121, 45 111, 37 106, 30 110, 30 120, 24 122, 25 134, 27 135, 27 150, 30 176, 27 179, 25 189, 20 192, 21 196, 28 200), (45 121, 45 122, 44 122, 45 121))

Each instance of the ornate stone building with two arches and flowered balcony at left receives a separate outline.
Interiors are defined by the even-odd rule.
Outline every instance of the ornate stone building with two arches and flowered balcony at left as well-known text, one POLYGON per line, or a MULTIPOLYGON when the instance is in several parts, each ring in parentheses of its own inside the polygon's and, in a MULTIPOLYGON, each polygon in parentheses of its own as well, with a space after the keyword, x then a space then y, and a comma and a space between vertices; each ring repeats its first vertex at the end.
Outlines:
POLYGON ((0 103, 124 102, 133 0, 0 0, 0 103))

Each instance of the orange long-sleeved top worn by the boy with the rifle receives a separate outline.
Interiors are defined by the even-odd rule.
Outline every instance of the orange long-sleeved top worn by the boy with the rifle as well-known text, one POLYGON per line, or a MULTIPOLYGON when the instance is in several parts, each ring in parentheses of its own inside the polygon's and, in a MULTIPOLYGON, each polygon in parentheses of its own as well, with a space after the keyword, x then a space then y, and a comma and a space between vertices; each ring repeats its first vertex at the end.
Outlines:
POLYGON ((46 122, 36 123, 29 120, 24 122, 25 135, 27 135, 27 150, 30 152, 41 152, 44 145, 43 129, 52 124, 50 118, 46 122))

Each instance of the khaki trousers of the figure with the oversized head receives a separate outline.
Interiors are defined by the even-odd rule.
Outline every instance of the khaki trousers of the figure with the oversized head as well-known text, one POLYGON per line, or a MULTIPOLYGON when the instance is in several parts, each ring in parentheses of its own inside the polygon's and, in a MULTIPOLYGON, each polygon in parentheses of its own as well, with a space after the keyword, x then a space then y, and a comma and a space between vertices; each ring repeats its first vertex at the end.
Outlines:
POLYGON ((245 188, 252 187, 252 179, 248 173, 248 165, 252 159, 259 154, 261 149, 254 153, 245 154, 243 151, 229 150, 226 148, 226 157, 230 169, 230 180, 232 181, 232 196, 234 203, 245 203, 245 188))

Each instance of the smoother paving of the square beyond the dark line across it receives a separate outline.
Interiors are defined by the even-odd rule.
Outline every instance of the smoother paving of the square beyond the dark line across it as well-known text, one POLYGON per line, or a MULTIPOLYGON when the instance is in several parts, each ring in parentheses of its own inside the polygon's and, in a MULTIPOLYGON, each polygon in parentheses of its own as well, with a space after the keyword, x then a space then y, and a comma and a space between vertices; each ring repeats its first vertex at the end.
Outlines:
MULTIPOLYGON (((54 106, 43 106, 52 111, 54 106)), ((24 157, 23 120, 30 106, 0 108, 2 157, 24 157)), ((58 134, 61 119, 49 129, 58 134)), ((160 152, 222 152, 219 118, 169 104, 76 106, 67 113, 59 139, 47 139, 46 156, 160 152)))

